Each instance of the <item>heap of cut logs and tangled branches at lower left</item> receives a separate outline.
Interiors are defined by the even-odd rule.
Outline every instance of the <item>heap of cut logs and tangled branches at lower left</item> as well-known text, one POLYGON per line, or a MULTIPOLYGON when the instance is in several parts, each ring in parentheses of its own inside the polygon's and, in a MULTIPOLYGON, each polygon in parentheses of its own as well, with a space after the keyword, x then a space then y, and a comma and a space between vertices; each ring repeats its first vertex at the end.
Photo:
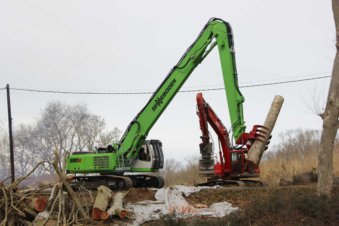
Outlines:
POLYGON ((74 192, 69 184, 73 177, 66 177, 62 173, 65 169, 58 167, 57 151, 55 157, 53 163, 41 161, 26 176, 12 184, 5 184, 10 177, 0 182, 0 226, 92 225, 94 220, 111 218, 114 221, 113 216, 117 219, 128 218, 123 207, 128 191, 113 195, 109 188, 100 186, 95 201, 92 191, 81 188, 74 192), (60 183, 36 189, 25 189, 20 185, 44 163, 54 167, 60 183), (94 219, 89 217, 91 211, 94 219))

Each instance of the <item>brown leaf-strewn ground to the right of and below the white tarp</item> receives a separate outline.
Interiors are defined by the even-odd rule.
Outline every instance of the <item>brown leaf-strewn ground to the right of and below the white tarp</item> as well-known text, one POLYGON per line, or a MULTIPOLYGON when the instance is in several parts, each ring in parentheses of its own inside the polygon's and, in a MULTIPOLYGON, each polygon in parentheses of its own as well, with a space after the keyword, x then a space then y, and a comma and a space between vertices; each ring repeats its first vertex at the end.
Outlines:
POLYGON ((318 197, 316 185, 223 187, 206 189, 185 197, 191 205, 229 202, 240 211, 223 218, 174 219, 146 222, 144 226, 339 226, 339 187, 333 187, 333 198, 318 197))

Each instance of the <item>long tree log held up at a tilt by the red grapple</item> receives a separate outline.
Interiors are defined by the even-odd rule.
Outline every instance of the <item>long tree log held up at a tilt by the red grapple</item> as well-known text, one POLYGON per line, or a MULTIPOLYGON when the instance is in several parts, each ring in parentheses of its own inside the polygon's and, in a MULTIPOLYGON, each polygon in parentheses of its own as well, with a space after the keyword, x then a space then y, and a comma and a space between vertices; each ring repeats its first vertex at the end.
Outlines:
POLYGON ((284 102, 284 98, 281 96, 275 96, 274 100, 272 102, 271 108, 268 111, 266 120, 264 122, 264 127, 267 127, 267 129, 262 129, 263 131, 266 131, 267 134, 260 132, 259 134, 265 136, 265 138, 260 138, 262 141, 256 140, 248 150, 248 155, 246 158, 246 166, 250 166, 252 169, 256 170, 259 166, 262 154, 265 151, 267 141, 269 137, 271 136, 271 132, 273 130, 273 127, 277 121, 282 103, 284 102))

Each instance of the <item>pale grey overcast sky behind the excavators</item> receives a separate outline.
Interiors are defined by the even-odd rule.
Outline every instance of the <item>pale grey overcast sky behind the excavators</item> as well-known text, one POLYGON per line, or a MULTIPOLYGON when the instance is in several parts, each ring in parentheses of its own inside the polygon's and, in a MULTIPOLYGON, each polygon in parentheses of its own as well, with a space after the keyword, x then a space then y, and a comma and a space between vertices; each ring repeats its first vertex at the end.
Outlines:
MULTIPOLYGON (((211 17, 233 28, 240 86, 331 75, 335 52, 331 1, 0 1, 0 78, 13 88, 48 90, 155 89, 211 17), (243 84, 242 84, 243 83, 243 84)), ((285 102, 273 130, 321 129, 322 120, 304 113, 301 96, 325 90, 330 78, 241 88, 247 131, 263 124, 275 95, 285 102)), ((217 48, 183 87, 223 84, 217 48)), ((222 86, 182 88, 182 90, 222 86)), ((144 90, 140 90, 144 91, 144 90)), ((152 90, 146 90, 152 91, 152 90)), ((163 142, 165 158, 199 153, 201 131, 196 94, 178 93, 149 132, 163 142)), ((202 91, 226 127, 224 90, 202 91)), ((0 115, 7 117, 0 90, 0 115)), ((48 100, 83 100, 125 130, 150 94, 80 95, 11 90, 14 123, 29 123, 48 100)), ((212 129, 211 129, 212 130, 212 129)), ((214 134, 214 133, 213 133, 214 134)), ((216 141, 214 135, 214 140, 216 141)))

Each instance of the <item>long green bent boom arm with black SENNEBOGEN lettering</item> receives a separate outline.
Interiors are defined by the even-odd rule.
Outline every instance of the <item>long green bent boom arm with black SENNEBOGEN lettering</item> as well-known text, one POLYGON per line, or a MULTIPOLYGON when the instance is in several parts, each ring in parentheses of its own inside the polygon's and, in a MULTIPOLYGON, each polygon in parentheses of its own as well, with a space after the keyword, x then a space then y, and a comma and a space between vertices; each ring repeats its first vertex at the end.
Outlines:
POLYGON ((129 124, 121 139, 121 145, 118 147, 119 153, 122 153, 121 151, 128 153, 126 158, 130 158, 135 148, 137 148, 133 156, 134 158, 137 157, 141 144, 145 141, 149 130, 178 93, 192 71, 216 45, 218 45, 219 49, 227 104, 235 140, 245 132, 246 126, 244 126, 242 110, 244 97, 238 88, 232 29, 227 22, 213 18, 205 25, 197 40, 188 48, 179 63, 173 67, 146 106, 129 124), (206 51, 213 38, 216 41, 206 51))

